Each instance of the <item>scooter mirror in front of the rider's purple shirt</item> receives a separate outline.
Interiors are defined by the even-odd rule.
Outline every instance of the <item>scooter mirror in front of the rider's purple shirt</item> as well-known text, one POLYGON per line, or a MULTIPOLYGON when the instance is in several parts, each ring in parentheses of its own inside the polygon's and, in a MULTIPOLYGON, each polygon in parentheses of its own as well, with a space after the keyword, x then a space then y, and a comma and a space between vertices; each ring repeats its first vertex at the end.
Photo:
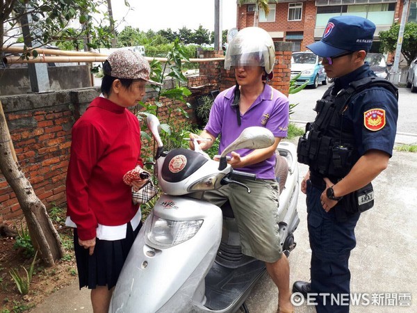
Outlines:
POLYGON ((259 126, 247 127, 236 138, 236 141, 223 150, 220 157, 226 157, 228 153, 238 149, 262 149, 270 147, 274 142, 275 137, 269 129, 259 126))

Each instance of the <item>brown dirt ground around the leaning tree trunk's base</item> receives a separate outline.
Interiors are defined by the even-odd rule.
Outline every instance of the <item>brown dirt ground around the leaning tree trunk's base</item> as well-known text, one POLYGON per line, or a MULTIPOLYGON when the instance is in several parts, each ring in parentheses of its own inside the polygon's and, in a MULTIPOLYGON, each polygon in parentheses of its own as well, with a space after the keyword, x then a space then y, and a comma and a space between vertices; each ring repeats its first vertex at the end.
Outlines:
MULTIPOLYGON (((60 211, 60 214, 62 214, 62 211, 60 211)), ((42 266, 40 260, 37 259, 33 266, 33 276, 26 295, 19 294, 10 271, 12 269, 18 270, 19 275, 26 277, 22 266, 29 271, 33 257, 26 258, 22 248, 13 248, 16 239, 0 237, 0 313, 30 311, 49 294, 67 286, 76 278, 71 229, 63 226, 63 218, 58 218, 56 215, 54 215, 54 218, 54 225, 63 241, 64 257, 56 263, 56 266, 51 268, 42 266)), ((20 223, 20 220, 14 221, 12 227, 13 225, 19 225, 18 223, 20 223)))

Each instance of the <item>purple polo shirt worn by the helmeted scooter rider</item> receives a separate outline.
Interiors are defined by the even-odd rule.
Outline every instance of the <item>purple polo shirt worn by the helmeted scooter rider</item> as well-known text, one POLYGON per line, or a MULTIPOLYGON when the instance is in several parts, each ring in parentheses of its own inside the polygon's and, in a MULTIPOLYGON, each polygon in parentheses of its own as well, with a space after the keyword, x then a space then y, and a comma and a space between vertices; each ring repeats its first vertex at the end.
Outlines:
MULTIPOLYGON (((232 143, 243 129, 251 126, 268 128, 275 137, 286 137, 288 131, 289 102, 288 98, 265 84, 263 92, 250 106, 245 114, 240 113, 241 125, 238 126, 236 109, 231 106, 236 86, 222 91, 214 100, 210 118, 204 128, 210 134, 218 137, 221 134, 219 153, 232 143)), ((250 154, 252 150, 236 150, 241 157, 250 154)), ((275 179, 275 154, 260 163, 238 168, 243 172, 256 174, 256 178, 275 179)))

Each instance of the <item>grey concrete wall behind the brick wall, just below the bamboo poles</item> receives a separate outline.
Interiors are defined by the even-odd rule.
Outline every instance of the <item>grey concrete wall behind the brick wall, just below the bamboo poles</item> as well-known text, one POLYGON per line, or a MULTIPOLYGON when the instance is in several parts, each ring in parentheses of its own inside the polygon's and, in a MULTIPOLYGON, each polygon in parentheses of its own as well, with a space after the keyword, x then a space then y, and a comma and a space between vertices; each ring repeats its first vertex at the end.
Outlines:
MULTIPOLYGON (((50 90, 58 91, 90 86, 88 65, 48 66, 50 90)), ((31 93, 27 67, 0 69, 0 95, 31 93)))

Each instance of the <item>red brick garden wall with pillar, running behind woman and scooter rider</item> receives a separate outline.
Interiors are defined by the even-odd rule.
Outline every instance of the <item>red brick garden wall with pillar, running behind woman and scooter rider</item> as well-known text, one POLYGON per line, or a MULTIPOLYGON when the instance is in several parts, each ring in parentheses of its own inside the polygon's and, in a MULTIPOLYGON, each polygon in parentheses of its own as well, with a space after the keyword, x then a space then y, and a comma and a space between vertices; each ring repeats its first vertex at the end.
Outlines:
MULTIPOLYGON (((272 86, 288 95, 290 80, 291 43, 276 42, 277 49, 272 86)), ((223 56, 222 51, 206 51, 205 57, 223 56)), ((165 81, 165 88, 173 88, 172 81, 165 81)), ((192 92, 188 102, 211 90, 224 90, 234 86, 234 74, 224 70, 223 61, 200 63, 200 74, 188 77, 187 87, 192 92)), ((31 182, 38 198, 49 209, 53 204, 65 204, 65 178, 70 159, 71 128, 83 114, 92 99, 99 95, 99 88, 63 90, 53 93, 3 96, 0 101, 8 121, 10 135, 22 172, 31 182)), ((156 93, 148 90, 144 102, 155 102, 156 93)), ((164 105, 159 118, 166 118, 167 107, 178 106, 188 111, 195 121, 193 109, 182 102, 172 103, 161 99, 164 105)), ((138 111, 134 108, 133 111, 138 111)), ((174 111, 174 120, 181 120, 181 113, 174 111)), ((16 195, 0 174, 0 223, 2 220, 22 215, 16 195)))

